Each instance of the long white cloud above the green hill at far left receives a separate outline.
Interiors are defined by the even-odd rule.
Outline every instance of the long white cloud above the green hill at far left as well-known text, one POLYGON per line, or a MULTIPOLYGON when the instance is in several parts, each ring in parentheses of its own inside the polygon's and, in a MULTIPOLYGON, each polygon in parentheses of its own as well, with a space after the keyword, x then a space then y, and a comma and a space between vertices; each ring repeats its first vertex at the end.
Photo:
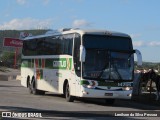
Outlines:
POLYGON ((49 29, 51 28, 52 23, 53 21, 51 19, 13 19, 9 22, 0 24, 0 30, 49 29))

